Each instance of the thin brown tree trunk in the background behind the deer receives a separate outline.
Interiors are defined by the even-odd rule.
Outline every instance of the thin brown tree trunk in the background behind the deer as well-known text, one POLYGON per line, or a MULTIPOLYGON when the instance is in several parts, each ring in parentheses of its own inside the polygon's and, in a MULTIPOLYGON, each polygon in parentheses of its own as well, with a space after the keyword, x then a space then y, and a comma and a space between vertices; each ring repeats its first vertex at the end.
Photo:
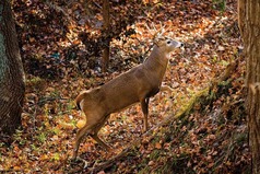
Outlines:
POLYGON ((110 22, 109 22, 109 0, 103 0, 103 36, 105 36, 105 48, 103 50, 102 56, 102 71, 106 72, 109 62, 109 47, 110 47, 110 37, 109 37, 109 30, 110 30, 110 22))

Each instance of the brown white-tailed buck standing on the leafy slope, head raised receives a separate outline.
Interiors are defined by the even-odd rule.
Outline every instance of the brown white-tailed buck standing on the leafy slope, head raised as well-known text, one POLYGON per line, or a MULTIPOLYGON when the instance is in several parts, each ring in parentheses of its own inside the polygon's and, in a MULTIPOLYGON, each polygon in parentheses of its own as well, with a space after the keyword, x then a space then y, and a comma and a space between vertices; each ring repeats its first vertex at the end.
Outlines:
POLYGON ((169 53, 180 46, 181 43, 170 38, 157 39, 151 55, 143 63, 102 86, 83 91, 76 96, 76 105, 84 112, 86 123, 76 132, 72 159, 76 158, 80 142, 85 135, 90 135, 102 147, 109 149, 97 134, 111 113, 119 112, 131 104, 141 103, 144 130, 147 130, 149 98, 161 89, 169 53))

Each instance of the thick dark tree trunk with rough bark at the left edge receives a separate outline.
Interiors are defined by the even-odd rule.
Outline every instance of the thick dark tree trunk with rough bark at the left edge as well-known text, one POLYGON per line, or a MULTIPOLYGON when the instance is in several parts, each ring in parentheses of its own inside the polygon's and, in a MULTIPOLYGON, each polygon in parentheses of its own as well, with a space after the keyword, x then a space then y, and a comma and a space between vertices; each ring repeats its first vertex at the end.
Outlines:
POLYGON ((10 0, 0 1, 0 139, 21 126, 25 84, 10 0))

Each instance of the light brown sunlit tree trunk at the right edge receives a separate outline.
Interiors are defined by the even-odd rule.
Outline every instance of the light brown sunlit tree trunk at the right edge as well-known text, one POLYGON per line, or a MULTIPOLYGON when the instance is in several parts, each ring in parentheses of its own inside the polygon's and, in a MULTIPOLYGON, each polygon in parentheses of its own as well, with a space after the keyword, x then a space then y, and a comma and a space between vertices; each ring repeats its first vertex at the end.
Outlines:
POLYGON ((260 173, 260 1, 238 0, 238 22, 247 60, 247 112, 252 174, 260 173))

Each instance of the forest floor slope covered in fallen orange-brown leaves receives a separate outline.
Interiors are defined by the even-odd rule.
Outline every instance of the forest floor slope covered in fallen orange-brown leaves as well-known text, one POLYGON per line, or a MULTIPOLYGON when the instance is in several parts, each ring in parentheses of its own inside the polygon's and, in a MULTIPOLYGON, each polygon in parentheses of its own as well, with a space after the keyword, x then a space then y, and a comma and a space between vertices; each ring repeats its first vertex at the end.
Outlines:
POLYGON ((0 143, 0 171, 250 173, 236 2, 113 1, 116 38, 106 74, 99 67, 101 4, 13 1, 27 88, 23 128, 14 141, 7 138, 0 143), (139 105, 114 114, 101 138, 115 150, 108 153, 86 138, 80 156, 87 165, 71 164, 76 121, 82 118, 74 97, 141 63, 152 46, 154 28, 162 26, 168 28, 165 35, 184 42, 186 49, 172 55, 165 76, 164 82, 174 92, 159 93, 151 101, 152 130, 142 136, 139 105), (234 69, 216 82, 231 62, 236 62, 234 69), (184 111, 188 112, 175 117, 184 111), (109 160, 118 154, 121 158, 109 160), (105 161, 107 165, 98 165, 105 161))

